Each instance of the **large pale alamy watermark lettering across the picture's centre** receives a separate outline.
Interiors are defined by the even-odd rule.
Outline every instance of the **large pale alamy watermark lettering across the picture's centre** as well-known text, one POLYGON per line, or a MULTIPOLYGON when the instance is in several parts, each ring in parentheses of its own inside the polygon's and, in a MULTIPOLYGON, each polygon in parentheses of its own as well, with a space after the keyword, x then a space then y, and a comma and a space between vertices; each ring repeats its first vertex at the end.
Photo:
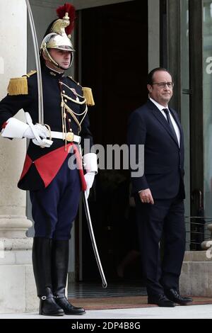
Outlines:
MULTIPOLYGON (((144 145, 93 145, 90 147, 90 140, 83 141, 83 155, 95 153, 98 159, 100 170, 131 170, 132 177, 141 177, 144 173, 144 145)), ((70 147, 70 153, 73 147, 70 147)), ((78 167, 76 154, 69 158, 69 169, 78 167)))

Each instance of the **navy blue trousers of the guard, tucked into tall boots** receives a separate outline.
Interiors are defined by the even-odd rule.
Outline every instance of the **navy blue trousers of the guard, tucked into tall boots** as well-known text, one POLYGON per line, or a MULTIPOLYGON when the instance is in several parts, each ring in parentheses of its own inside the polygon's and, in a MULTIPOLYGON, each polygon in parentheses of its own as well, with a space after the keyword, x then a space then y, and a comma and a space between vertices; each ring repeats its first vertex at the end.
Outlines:
POLYGON ((35 237, 57 240, 71 237, 81 194, 81 180, 78 169, 69 169, 68 159, 47 188, 30 191, 35 237))

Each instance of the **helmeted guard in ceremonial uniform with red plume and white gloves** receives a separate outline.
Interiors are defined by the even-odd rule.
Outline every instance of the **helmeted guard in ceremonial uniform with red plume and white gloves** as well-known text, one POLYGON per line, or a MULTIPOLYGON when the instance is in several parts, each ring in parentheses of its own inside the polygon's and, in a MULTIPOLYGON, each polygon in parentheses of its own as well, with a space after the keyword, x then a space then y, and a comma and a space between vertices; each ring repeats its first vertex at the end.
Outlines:
POLYGON ((96 155, 81 149, 85 139, 93 144, 89 130, 88 105, 93 105, 90 89, 83 89, 64 72, 73 61, 69 34, 75 18, 74 7, 57 9, 42 41, 40 60, 45 124, 38 123, 37 73, 32 71, 11 79, 8 95, 0 102, 1 135, 30 139, 18 187, 30 191, 35 237, 33 270, 40 315, 81 315, 65 296, 71 227, 78 210, 81 191, 93 185, 97 172, 96 155), (69 29, 69 30, 67 30, 69 29), (13 117, 23 108, 26 123, 13 117), (76 168, 69 158, 76 158, 76 168))

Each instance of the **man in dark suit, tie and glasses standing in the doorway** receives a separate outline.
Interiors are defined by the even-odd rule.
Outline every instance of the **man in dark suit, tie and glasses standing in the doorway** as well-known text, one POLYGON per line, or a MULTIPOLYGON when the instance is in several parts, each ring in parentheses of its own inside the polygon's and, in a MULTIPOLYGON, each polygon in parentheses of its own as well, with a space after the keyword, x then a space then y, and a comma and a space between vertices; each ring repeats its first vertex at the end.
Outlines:
POLYGON ((179 275, 185 249, 184 142, 177 113, 167 106, 172 97, 171 74, 163 68, 148 74, 149 99, 129 118, 129 147, 144 145, 143 176, 131 177, 141 243, 148 303, 163 307, 185 305, 179 295, 179 275), (160 240, 164 240, 160 263, 160 240))

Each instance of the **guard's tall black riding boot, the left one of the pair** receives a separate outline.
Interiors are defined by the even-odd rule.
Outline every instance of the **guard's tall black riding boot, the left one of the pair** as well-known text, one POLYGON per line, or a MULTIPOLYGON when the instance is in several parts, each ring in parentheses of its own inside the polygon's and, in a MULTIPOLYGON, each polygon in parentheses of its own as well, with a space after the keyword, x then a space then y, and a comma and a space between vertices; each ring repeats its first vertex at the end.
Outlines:
POLYGON ((40 298, 39 315, 61 316, 64 311, 52 294, 51 278, 52 239, 35 237, 33 241, 33 271, 40 298))

